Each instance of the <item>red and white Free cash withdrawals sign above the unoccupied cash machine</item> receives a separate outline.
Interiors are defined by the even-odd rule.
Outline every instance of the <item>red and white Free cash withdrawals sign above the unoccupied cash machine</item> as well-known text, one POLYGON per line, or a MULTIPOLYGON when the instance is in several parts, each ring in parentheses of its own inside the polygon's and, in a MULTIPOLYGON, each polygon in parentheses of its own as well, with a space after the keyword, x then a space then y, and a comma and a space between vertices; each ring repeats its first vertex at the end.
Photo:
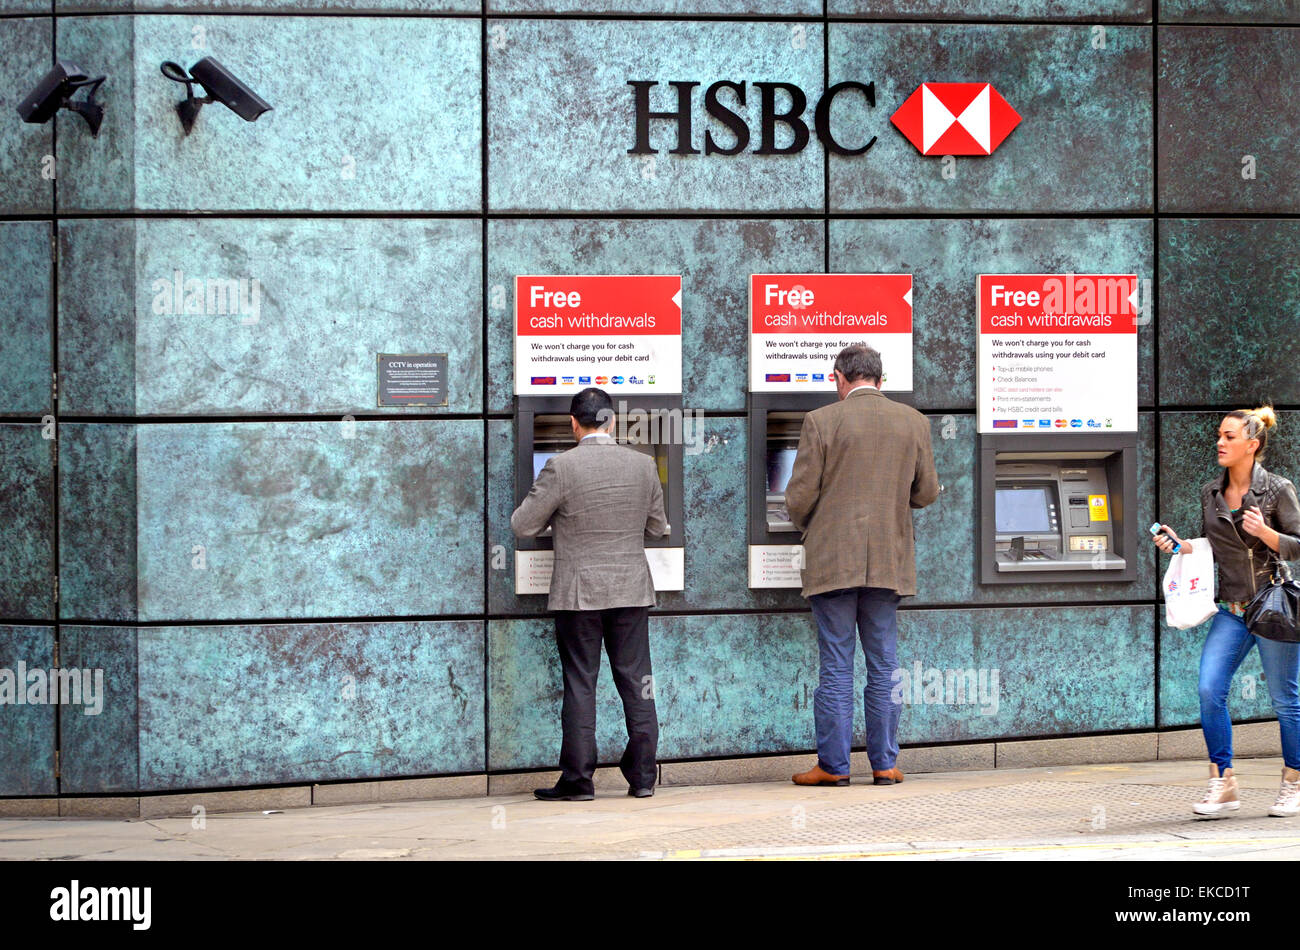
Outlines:
POLYGON ((980 274, 979 431, 1138 431, 1138 277, 980 274))

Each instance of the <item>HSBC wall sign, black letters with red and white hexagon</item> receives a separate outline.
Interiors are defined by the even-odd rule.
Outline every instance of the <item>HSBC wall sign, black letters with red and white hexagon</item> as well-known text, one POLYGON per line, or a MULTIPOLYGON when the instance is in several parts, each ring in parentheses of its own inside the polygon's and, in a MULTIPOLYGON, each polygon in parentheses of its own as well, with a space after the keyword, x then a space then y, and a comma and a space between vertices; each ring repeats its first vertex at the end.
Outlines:
MULTIPOLYGON (((705 114, 727 126, 734 142, 720 144, 714 139, 712 131, 706 130, 703 149, 696 148, 692 139, 694 91, 699 83, 690 81, 667 83, 677 94, 677 108, 654 112, 650 109, 650 90, 658 84, 645 79, 628 81, 636 110, 636 142, 628 149, 628 155, 656 155, 660 151, 651 140, 651 120, 676 125, 676 144, 667 149, 670 155, 699 155, 701 151, 703 155, 738 155, 750 147, 754 136, 749 123, 719 97, 719 92, 727 90, 737 105, 745 105, 746 96, 750 95, 745 82, 723 79, 705 90, 705 114)), ((809 104, 803 90, 788 82, 755 82, 750 86, 759 100, 758 142, 750 151, 754 155, 802 152, 811 139, 803 118, 809 104), (784 112, 777 112, 777 91, 789 99, 784 112), (779 123, 793 136, 788 146, 776 146, 779 123)), ((812 109, 812 131, 826 151, 833 155, 862 155, 876 144, 876 136, 872 135, 863 143, 848 144, 835 136, 831 129, 831 105, 838 96, 845 96, 846 101, 862 103, 868 109, 875 108, 876 84, 836 83, 812 109)), ((948 82, 918 86, 890 121, 922 155, 992 155, 1019 125, 1020 116, 987 82, 948 82)))

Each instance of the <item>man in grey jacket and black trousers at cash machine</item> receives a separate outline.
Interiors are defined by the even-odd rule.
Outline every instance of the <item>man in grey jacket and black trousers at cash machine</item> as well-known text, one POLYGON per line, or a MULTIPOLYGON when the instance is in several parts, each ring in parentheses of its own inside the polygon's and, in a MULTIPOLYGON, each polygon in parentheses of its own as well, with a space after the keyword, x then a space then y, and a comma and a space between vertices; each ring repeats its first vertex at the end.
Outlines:
POLYGON ((623 699, 628 745, 619 762, 628 794, 654 794, 659 720, 650 669, 654 584, 645 539, 668 532, 654 460, 610 435, 614 402, 598 389, 573 396, 569 424, 577 446, 537 476, 510 517, 516 538, 551 525, 555 571, 547 607, 564 669, 560 780, 533 794, 543 802, 590 802, 595 772, 595 678, 601 641, 623 699))

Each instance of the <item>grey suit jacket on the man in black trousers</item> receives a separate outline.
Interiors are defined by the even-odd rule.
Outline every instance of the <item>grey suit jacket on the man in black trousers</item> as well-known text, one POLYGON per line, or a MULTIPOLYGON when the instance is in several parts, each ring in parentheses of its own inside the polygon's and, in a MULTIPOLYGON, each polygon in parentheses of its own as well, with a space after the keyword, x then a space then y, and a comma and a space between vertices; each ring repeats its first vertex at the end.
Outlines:
POLYGON ((547 607, 601 611, 654 604, 645 539, 668 530, 653 459, 593 435, 550 461, 515 513, 516 538, 554 529, 547 607))

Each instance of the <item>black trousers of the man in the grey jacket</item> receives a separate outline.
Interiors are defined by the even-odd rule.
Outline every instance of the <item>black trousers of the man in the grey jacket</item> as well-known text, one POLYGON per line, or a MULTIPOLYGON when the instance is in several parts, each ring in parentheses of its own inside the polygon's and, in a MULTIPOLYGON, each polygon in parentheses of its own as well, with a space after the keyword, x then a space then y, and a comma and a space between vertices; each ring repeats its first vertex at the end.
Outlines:
POLYGON ((577 794, 593 791, 595 678, 601 672, 602 641, 628 723, 628 746, 619 768, 632 788, 653 789, 658 778, 655 750, 659 745, 659 719, 650 672, 649 607, 555 611, 555 642, 564 668, 559 788, 577 794))

